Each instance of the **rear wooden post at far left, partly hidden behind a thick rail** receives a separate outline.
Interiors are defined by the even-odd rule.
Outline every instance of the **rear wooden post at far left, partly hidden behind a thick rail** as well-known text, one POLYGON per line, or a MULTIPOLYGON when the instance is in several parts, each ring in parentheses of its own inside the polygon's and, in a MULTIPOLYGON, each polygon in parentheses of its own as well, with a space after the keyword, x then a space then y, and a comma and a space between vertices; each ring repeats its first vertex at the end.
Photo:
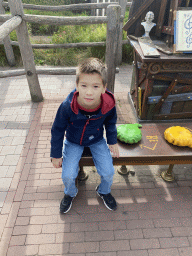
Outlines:
MULTIPOLYGON (((3 8, 2 2, 3 2, 3 0, 0 0, 0 14, 5 14, 5 10, 3 8)), ((0 23, 0 25, 1 25, 1 23, 0 23)), ((15 61, 15 56, 13 53, 13 48, 12 48, 9 36, 4 38, 3 44, 4 44, 5 54, 6 54, 9 66, 11 66, 11 67, 15 66, 16 61, 15 61)))

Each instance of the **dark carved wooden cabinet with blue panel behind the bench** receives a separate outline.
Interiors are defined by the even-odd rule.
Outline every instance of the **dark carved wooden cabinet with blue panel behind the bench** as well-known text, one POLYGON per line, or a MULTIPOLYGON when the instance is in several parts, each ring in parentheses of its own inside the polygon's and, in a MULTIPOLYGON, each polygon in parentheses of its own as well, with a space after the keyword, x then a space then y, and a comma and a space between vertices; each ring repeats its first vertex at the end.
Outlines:
POLYGON ((142 120, 192 119, 192 54, 144 57, 139 42, 134 49, 130 95, 142 120))

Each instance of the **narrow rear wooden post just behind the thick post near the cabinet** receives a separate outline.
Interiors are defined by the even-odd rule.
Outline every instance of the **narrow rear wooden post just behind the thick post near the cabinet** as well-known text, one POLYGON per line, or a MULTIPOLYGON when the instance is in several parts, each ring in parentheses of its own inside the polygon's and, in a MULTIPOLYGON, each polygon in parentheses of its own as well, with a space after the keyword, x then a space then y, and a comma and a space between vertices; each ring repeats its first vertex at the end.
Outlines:
MULTIPOLYGON (((121 6, 121 15, 125 16, 127 0, 119 0, 119 5, 121 6)), ((122 46, 123 46, 123 21, 120 23, 120 33, 119 33, 119 43, 118 43, 118 53, 117 53, 117 65, 122 63, 122 46)))

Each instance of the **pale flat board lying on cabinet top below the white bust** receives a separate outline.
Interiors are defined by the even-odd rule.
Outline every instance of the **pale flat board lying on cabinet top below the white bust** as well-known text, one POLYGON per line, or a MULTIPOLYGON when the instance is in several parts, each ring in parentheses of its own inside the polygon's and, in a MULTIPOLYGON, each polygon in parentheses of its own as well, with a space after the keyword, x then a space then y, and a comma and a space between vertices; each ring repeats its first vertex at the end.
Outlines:
POLYGON ((149 37, 140 37, 138 38, 138 42, 144 57, 160 57, 159 52, 157 51, 155 45, 149 37))

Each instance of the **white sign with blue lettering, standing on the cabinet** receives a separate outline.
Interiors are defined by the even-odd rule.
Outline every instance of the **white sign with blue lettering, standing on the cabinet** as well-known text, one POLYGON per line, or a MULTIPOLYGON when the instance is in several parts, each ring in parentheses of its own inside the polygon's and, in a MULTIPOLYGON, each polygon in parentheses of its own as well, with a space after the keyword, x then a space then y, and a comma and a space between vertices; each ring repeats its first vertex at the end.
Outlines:
POLYGON ((176 52, 192 52, 192 10, 177 11, 174 38, 176 52))

